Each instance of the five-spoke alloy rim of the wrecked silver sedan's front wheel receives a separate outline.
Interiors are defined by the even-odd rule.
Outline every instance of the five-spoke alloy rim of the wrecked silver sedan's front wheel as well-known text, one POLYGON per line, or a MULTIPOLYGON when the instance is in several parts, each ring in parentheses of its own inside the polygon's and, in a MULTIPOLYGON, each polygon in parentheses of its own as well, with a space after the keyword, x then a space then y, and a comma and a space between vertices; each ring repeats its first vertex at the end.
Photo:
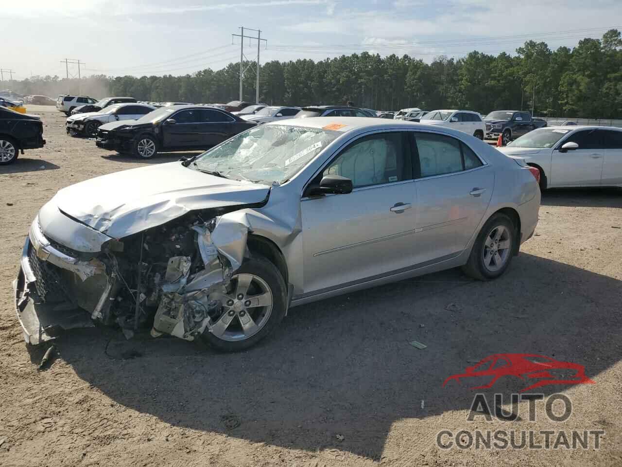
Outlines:
POLYGON ((211 323, 210 332, 223 341, 244 341, 266 326, 274 299, 267 282, 254 274, 234 275, 231 285, 230 293, 218 297, 223 314, 211 323))

